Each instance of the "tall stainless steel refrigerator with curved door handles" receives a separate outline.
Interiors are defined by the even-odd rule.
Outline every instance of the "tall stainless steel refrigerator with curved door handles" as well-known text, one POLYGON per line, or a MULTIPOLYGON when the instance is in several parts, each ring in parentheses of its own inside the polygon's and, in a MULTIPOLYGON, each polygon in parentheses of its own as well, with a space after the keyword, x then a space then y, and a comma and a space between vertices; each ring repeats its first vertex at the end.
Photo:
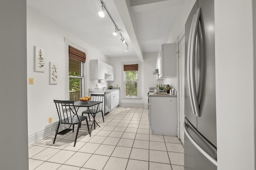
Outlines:
POLYGON ((217 170, 214 0, 197 0, 185 25, 184 170, 217 170))

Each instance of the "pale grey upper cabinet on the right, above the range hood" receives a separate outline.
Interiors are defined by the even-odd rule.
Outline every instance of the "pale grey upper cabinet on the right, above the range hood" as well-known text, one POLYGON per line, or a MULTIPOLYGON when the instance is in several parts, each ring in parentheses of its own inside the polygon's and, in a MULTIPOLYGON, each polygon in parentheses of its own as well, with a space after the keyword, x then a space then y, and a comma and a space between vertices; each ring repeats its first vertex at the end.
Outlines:
POLYGON ((159 78, 176 76, 176 43, 162 44, 159 52, 156 68, 159 70, 159 78))

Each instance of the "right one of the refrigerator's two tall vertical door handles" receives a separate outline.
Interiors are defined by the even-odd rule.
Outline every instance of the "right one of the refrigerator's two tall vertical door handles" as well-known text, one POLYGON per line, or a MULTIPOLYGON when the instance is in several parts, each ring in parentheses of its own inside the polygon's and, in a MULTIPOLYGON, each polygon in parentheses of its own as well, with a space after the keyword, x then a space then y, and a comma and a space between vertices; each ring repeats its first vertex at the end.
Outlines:
MULTIPOLYGON (((199 106, 198 106, 198 98, 197 98, 197 94, 196 94, 196 80, 195 80, 195 48, 196 48, 196 33, 198 30, 198 23, 199 19, 200 19, 200 12, 201 12, 201 8, 198 8, 196 11, 196 16, 195 16, 195 20, 194 20, 194 24, 193 24, 193 28, 192 28, 192 35, 191 35, 191 49, 190 49, 190 86, 191 86, 191 95, 192 95, 192 104, 193 104, 193 111, 194 114, 196 114, 197 117, 200 117, 200 111, 199 111, 199 106)), ((202 30, 199 29, 199 31, 202 30)))

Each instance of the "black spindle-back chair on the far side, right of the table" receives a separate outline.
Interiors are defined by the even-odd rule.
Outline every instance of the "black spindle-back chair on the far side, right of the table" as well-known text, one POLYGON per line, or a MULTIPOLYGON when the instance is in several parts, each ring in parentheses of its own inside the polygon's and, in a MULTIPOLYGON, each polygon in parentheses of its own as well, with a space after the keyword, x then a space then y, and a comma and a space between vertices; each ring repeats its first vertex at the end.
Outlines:
MULTIPOLYGON (((91 94, 91 99, 90 101, 97 101, 97 102, 103 102, 103 98, 104 98, 104 94, 91 94)), ((89 120, 91 121, 90 119, 90 115, 92 115, 93 119, 94 119, 94 129, 95 129, 95 117, 96 117, 96 113, 99 113, 101 112, 102 114, 102 119, 103 119, 103 122, 104 122, 104 115, 103 115, 103 111, 102 111, 102 103, 100 103, 99 105, 95 105, 95 106, 92 106, 90 108, 88 108, 86 111, 83 111, 82 112, 82 115, 84 114, 88 114, 88 117, 89 117, 89 120)), ((96 122, 97 123, 97 122, 96 122)), ((97 123, 98 125, 98 123, 97 123)))

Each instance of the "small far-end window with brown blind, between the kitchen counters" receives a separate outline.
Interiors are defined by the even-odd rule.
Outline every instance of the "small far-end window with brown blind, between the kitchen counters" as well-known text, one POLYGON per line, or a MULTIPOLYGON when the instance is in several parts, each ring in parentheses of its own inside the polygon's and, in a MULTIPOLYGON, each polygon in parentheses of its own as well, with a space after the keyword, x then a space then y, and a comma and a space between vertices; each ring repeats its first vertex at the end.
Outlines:
POLYGON ((138 97, 139 95, 139 65, 124 64, 124 96, 138 97))

